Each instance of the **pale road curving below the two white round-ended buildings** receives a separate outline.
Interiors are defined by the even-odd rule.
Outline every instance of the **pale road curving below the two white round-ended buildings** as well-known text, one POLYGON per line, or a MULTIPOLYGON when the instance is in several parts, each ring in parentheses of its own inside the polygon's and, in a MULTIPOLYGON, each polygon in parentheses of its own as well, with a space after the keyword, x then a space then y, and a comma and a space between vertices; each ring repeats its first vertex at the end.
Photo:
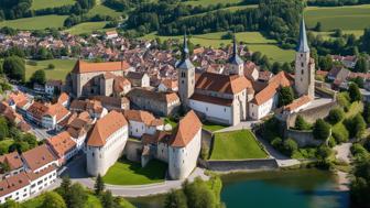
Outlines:
MULTIPOLYGON (((68 175, 73 183, 80 183, 81 185, 94 189, 94 179, 90 178, 86 173, 86 157, 84 154, 80 154, 74 161, 68 163, 65 166, 62 175, 68 175)), ((123 176, 124 177, 124 176, 123 176)), ((205 180, 209 179, 205 175, 205 169, 196 168, 192 175, 187 178, 189 182, 193 182, 196 177, 200 177, 205 180)), ((106 188, 110 190, 115 196, 123 197, 140 197, 149 195, 157 195, 168 193, 171 189, 179 189, 183 179, 179 180, 165 180, 164 183, 151 184, 151 185, 138 185, 138 186, 118 186, 118 185, 108 185, 106 188)))

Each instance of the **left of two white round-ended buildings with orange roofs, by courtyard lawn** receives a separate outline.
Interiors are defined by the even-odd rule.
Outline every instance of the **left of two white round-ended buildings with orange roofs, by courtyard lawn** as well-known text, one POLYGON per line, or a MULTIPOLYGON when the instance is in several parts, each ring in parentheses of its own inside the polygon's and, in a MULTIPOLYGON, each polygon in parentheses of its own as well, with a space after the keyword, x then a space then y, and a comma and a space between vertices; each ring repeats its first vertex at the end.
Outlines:
POLYGON ((129 125, 122 113, 110 111, 99 119, 86 144, 87 173, 105 175, 122 155, 129 136, 129 125))

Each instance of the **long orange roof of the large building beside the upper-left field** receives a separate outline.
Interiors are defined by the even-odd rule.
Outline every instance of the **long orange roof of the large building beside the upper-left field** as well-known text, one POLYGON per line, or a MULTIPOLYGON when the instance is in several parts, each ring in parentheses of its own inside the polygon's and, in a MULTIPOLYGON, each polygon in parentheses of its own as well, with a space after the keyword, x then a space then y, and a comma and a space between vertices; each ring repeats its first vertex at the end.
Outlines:
POLYGON ((87 63, 78 61, 72 70, 75 74, 128 70, 131 66, 127 62, 106 62, 106 63, 87 63))

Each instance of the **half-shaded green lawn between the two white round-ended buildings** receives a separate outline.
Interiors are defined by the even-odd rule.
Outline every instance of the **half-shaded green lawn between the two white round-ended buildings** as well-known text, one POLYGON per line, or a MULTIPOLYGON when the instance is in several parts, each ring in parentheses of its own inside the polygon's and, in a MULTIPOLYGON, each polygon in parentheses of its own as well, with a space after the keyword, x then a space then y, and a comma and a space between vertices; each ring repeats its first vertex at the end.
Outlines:
POLYGON ((140 163, 118 161, 104 176, 107 184, 113 185, 143 185, 164 180, 167 164, 151 161, 145 167, 140 163))

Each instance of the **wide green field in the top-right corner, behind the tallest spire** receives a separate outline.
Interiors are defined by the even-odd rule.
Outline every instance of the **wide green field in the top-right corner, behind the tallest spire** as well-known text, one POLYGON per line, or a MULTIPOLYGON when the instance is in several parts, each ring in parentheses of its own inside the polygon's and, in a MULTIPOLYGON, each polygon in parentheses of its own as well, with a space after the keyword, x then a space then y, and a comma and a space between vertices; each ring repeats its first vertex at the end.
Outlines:
POLYGON ((370 26, 370 4, 334 8, 308 7, 305 18, 308 28, 314 28, 317 22, 322 22, 323 31, 362 30, 370 26))

